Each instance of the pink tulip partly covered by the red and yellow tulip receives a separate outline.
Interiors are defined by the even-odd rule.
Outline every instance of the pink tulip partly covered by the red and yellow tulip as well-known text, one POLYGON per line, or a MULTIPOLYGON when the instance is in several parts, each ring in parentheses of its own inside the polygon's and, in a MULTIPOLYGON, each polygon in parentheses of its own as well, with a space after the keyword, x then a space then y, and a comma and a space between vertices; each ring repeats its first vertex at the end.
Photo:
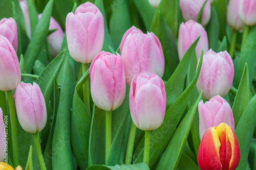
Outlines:
POLYGON ((199 133, 202 139, 206 130, 210 127, 217 127, 225 123, 234 131, 233 112, 225 99, 216 95, 209 101, 203 103, 201 100, 198 104, 199 112, 199 133))

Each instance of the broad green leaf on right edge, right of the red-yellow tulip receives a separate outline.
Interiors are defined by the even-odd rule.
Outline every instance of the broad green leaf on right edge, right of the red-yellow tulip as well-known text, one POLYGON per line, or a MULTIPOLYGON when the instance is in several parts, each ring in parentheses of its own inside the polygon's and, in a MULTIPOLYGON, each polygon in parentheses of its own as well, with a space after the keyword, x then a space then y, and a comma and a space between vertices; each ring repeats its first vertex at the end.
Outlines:
POLYGON ((238 170, 246 169, 250 141, 256 126, 256 95, 250 100, 241 115, 236 130, 239 148, 240 148, 240 163, 238 170))

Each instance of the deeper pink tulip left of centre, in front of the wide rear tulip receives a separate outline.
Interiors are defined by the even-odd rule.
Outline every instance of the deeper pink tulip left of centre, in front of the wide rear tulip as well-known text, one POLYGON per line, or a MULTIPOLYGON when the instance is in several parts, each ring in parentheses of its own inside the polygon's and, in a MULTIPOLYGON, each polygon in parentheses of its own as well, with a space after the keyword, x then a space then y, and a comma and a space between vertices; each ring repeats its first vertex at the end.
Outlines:
POLYGON ((123 103, 126 84, 119 54, 99 53, 90 66, 90 78, 92 99, 97 107, 111 111, 123 103))

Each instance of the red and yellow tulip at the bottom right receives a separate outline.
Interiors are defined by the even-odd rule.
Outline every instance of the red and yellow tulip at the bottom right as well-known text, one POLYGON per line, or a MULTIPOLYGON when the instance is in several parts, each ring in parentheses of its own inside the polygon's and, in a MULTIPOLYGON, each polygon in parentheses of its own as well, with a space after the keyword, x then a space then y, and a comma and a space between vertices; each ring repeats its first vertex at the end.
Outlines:
POLYGON ((239 161, 238 139, 227 124, 221 123, 205 132, 198 151, 198 165, 201 170, 234 170, 239 161))

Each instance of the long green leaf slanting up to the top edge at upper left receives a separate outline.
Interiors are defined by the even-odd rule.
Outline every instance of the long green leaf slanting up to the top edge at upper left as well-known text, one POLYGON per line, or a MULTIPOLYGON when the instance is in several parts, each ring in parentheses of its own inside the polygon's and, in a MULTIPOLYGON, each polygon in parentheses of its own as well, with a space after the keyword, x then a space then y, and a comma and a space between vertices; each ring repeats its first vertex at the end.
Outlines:
POLYGON ((42 12, 42 16, 36 25, 35 32, 32 35, 31 41, 24 55, 25 73, 31 73, 35 60, 37 59, 37 56, 40 53, 42 46, 45 44, 52 14, 52 6, 53 0, 50 0, 44 11, 42 12))

